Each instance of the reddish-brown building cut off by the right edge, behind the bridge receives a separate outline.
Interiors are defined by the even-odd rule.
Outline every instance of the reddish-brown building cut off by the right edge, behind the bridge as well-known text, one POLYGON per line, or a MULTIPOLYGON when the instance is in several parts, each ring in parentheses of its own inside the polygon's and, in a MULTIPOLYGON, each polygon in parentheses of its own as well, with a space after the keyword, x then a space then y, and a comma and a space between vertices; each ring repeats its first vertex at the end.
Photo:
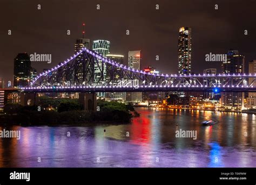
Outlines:
MULTIPOLYGON (((249 62, 248 67, 249 74, 256 74, 256 60, 252 60, 249 62)), ((248 85, 256 86, 256 82, 253 82, 254 78, 248 79, 248 85)), ((246 98, 246 107, 247 108, 256 108, 256 93, 248 93, 248 97, 246 98)))

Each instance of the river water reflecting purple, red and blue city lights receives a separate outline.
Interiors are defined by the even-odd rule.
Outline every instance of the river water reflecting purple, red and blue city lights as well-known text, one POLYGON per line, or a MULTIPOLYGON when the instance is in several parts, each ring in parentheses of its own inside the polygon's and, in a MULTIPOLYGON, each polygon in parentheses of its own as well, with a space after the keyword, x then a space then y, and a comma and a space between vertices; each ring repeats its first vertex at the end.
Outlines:
POLYGON ((0 167, 256 167, 255 115, 137 111, 130 124, 2 126, 21 138, 0 138, 0 167), (180 129, 197 137, 177 138, 180 129))

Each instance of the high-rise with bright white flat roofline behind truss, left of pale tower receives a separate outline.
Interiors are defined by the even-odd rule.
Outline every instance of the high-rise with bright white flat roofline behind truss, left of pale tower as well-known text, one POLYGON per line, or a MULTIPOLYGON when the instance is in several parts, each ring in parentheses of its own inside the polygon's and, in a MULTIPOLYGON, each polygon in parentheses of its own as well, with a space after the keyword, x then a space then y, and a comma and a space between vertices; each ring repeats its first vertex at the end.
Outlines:
MULTIPOLYGON (((106 57, 119 64, 124 64, 124 55, 107 54, 106 57)), ((107 63, 106 68, 109 68, 111 70, 112 65, 107 63)), ((117 70, 120 70, 120 68, 118 68, 117 70)), ((111 79, 112 79, 111 74, 106 74, 106 81, 111 81, 111 79)), ((116 85, 118 83, 118 80, 122 80, 122 79, 118 74, 116 74, 116 76, 113 76, 111 83, 114 83, 114 85, 116 85)), ((105 99, 107 101, 125 101, 125 98, 126 98, 125 92, 105 93, 105 99)))

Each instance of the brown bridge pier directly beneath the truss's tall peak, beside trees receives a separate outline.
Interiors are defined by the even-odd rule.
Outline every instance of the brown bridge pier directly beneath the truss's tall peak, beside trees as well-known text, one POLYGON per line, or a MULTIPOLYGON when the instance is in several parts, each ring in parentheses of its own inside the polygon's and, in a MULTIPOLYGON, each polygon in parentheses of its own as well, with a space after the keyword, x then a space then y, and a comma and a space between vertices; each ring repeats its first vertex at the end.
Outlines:
POLYGON ((96 111, 96 93, 79 93, 79 103, 84 106, 84 110, 96 111))

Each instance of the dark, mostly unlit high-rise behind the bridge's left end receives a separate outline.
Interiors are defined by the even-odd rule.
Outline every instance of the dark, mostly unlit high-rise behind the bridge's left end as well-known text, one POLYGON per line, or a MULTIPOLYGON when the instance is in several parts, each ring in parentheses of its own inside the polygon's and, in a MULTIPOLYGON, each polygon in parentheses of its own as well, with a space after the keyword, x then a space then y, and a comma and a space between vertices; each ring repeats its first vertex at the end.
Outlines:
POLYGON ((28 53, 19 53, 14 59, 14 87, 28 86, 31 61, 28 53))

